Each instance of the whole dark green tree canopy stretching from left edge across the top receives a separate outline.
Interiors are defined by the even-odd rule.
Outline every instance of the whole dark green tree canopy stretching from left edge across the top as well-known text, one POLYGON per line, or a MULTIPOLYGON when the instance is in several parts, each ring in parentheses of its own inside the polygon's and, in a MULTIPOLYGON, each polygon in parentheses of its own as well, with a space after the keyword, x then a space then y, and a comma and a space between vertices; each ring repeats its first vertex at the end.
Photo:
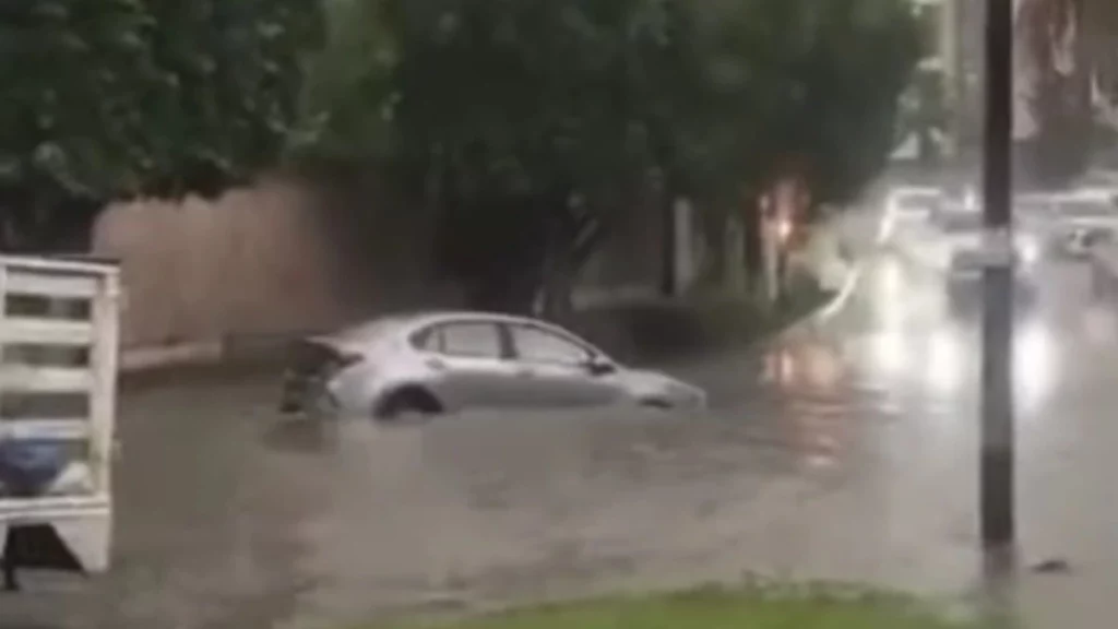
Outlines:
POLYGON ((294 145, 378 163, 437 214, 448 269, 525 287, 577 271, 652 189, 717 214, 792 169, 849 198, 891 148, 919 39, 904 0, 40 0, 0 18, 0 247, 57 246, 110 199, 215 194, 294 145))

